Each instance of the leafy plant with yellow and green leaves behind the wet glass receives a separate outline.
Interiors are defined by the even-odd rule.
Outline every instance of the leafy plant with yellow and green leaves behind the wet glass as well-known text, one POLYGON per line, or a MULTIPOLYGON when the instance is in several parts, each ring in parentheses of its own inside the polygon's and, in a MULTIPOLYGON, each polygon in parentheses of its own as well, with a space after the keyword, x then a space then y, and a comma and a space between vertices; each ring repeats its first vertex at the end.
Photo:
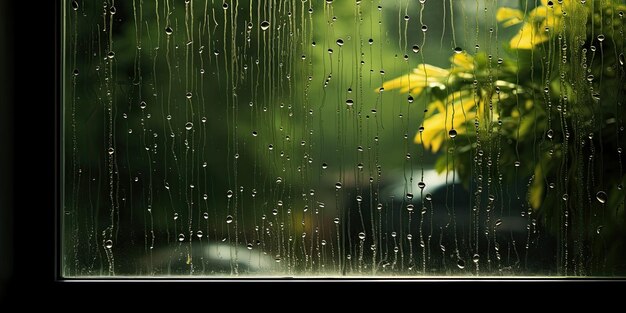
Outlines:
POLYGON ((563 274, 626 272, 624 11, 610 0, 499 8, 503 27, 521 24, 512 57, 455 48, 450 68, 421 64, 382 86, 427 99, 414 141, 445 151, 436 169, 456 171, 476 201, 527 179, 514 196, 559 240, 563 274))

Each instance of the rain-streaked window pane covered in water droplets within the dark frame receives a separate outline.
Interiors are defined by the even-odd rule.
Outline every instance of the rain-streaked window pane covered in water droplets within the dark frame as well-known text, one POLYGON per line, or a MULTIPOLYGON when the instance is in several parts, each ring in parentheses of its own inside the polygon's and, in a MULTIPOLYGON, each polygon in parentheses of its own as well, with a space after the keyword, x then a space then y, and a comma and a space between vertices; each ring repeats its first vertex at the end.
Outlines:
POLYGON ((62 274, 623 276, 624 11, 66 0, 62 274))

